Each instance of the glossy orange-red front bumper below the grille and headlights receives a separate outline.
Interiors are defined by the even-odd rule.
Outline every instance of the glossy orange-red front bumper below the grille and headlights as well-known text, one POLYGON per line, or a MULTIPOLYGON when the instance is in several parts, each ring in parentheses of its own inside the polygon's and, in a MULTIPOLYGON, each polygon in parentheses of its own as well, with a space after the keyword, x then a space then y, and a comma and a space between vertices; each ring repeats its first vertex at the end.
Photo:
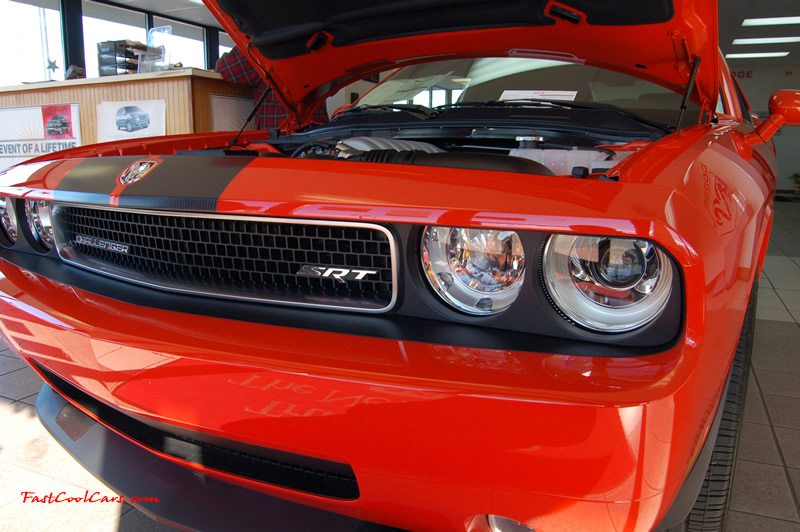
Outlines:
MULTIPOLYGON (((321 496, 128 445, 200 486, 401 529, 463 531, 495 514, 540 532, 648 530, 719 397, 707 375, 687 371, 697 356, 684 343, 602 358, 359 337, 140 307, 2 269, 0 328, 34 367, 176 432, 347 464, 359 495, 321 496)), ((99 473, 135 494, 109 471, 99 473)))

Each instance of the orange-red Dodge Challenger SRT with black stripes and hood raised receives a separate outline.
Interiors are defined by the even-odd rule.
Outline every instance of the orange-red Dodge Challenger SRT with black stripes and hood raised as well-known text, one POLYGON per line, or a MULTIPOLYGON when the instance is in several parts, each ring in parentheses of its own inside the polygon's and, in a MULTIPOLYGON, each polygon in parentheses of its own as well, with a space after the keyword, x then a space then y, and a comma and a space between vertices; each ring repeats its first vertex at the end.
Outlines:
POLYGON ((279 129, 0 176, 53 436, 184 529, 721 529, 800 92, 716 2, 206 2, 279 129))

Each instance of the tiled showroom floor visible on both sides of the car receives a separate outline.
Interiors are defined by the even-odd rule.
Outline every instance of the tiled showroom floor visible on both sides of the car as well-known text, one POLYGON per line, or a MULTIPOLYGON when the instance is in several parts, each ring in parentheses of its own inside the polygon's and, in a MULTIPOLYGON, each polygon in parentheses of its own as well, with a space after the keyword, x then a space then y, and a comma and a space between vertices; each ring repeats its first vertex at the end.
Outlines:
MULTIPOLYGON (((775 204, 728 532, 800 532, 800 202, 775 204)), ((127 504, 32 504, 22 491, 113 497, 41 426, 41 382, 0 344, 0 532, 166 531, 127 504)))

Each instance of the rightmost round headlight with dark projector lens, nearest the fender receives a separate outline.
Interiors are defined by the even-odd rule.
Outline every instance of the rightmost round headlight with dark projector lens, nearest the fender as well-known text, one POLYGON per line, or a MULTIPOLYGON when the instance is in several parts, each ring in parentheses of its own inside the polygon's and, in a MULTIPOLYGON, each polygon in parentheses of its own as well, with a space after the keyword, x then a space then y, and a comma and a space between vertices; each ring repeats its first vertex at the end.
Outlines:
POLYGON ((542 261, 545 288, 569 319, 624 332, 658 316, 672 291, 672 263, 646 240, 553 235, 542 261))

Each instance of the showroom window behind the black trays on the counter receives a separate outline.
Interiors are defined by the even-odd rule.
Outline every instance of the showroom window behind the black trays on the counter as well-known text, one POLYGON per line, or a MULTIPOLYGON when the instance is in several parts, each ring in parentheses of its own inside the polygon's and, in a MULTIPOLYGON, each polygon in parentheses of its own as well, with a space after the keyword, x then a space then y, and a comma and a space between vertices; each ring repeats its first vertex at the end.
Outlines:
POLYGON ((86 59, 86 77, 96 78, 100 75, 97 59, 98 43, 120 40, 146 43, 145 24, 143 13, 84 0, 83 51, 86 59))

